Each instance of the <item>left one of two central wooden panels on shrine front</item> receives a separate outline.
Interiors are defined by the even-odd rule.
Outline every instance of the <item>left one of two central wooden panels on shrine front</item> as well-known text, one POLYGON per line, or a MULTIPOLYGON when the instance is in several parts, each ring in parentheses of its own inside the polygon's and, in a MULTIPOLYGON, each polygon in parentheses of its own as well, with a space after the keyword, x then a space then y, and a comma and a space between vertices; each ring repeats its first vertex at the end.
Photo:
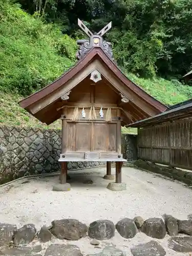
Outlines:
POLYGON ((91 151, 91 123, 76 123, 76 151, 91 151))

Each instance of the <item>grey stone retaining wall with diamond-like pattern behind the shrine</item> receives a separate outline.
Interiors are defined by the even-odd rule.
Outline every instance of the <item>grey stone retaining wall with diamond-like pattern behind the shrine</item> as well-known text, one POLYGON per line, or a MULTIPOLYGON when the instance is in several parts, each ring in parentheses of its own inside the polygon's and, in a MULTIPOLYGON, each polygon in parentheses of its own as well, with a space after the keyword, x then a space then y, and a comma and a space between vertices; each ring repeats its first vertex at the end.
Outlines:
MULTIPOLYGON (((131 136, 131 137, 130 137, 131 136)), ((135 138, 123 136, 124 157, 136 158, 135 138)), ((60 170, 61 131, 0 126, 0 184, 33 174, 60 170)), ((68 169, 102 165, 102 162, 69 162, 68 169)))

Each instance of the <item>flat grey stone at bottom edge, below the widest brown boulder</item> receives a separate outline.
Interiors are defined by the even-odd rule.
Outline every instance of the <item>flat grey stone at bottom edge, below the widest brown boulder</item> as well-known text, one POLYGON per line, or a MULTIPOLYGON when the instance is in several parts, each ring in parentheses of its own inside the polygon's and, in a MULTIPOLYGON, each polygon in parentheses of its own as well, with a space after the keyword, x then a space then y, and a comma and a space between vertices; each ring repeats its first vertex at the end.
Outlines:
POLYGON ((45 256, 83 256, 80 249, 76 245, 66 245, 66 244, 52 244, 50 245, 45 256))

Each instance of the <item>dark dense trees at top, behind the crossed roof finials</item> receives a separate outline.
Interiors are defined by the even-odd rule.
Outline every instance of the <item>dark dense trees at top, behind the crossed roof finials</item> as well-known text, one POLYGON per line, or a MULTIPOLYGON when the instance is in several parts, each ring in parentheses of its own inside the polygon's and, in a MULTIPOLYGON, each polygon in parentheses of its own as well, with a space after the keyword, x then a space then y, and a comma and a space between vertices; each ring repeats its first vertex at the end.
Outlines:
POLYGON ((73 36, 81 35, 77 18, 96 32, 112 20, 107 37, 129 72, 181 78, 192 69, 192 0, 15 1, 73 36))

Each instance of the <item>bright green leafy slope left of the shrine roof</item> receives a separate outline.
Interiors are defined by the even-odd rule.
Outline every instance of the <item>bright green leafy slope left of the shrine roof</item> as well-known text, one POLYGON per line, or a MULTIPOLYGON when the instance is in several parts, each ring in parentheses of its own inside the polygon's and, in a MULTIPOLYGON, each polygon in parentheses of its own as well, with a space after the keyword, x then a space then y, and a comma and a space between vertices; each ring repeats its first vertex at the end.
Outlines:
POLYGON ((17 5, 0 2, 0 90, 28 95, 74 63, 76 42, 17 5))

